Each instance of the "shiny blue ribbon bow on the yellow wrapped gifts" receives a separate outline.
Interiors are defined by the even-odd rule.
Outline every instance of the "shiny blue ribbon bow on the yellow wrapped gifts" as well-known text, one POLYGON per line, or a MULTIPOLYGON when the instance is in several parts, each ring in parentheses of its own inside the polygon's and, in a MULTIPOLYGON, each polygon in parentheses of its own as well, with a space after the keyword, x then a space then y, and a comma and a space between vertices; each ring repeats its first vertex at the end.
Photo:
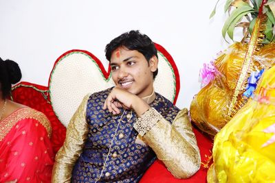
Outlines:
POLYGON ((264 69, 259 71, 252 71, 250 77, 248 77, 248 86, 245 88, 245 92, 243 93, 243 96, 245 97, 251 97, 254 90, 256 90, 256 86, 258 81, 260 80, 261 75, 263 75, 264 69))

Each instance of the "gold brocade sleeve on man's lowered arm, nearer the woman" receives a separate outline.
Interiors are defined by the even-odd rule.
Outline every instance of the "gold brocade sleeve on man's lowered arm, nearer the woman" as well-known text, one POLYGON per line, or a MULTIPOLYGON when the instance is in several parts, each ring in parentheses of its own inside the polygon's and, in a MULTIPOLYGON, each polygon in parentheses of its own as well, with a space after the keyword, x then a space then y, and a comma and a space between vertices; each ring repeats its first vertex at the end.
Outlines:
POLYGON ((52 182, 70 182, 74 164, 83 152, 88 134, 86 108, 89 95, 86 95, 74 113, 67 127, 65 143, 56 154, 56 162, 52 172, 52 182))

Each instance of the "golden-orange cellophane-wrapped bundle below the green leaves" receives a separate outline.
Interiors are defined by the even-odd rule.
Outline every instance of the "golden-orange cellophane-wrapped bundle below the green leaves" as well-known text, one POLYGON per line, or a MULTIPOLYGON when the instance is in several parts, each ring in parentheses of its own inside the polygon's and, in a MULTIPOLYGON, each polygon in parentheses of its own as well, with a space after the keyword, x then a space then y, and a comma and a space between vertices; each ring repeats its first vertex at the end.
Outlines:
MULTIPOLYGON (((247 47, 248 45, 236 42, 223 51, 217 60, 214 61, 214 66, 217 69, 217 75, 214 80, 202 88, 192 100, 190 106, 192 121, 203 132, 211 136, 217 134, 232 118, 232 116, 228 115, 228 110, 241 69, 244 66, 243 61, 247 47)), ((238 102, 236 103, 236 112, 247 102, 247 100, 243 99, 242 94, 245 91, 251 71, 269 68, 274 65, 274 58, 274 44, 265 45, 252 56, 243 87, 237 97, 239 104, 238 102)))

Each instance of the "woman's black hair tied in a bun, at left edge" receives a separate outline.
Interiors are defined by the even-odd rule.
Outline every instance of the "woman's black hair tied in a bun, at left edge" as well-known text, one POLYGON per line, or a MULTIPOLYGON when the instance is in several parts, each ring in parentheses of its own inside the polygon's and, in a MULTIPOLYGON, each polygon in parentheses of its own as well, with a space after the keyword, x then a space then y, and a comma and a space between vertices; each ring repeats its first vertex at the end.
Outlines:
POLYGON ((21 80, 21 70, 17 62, 12 60, 2 60, 0 58, 0 91, 2 98, 10 96, 12 84, 16 84, 21 80))

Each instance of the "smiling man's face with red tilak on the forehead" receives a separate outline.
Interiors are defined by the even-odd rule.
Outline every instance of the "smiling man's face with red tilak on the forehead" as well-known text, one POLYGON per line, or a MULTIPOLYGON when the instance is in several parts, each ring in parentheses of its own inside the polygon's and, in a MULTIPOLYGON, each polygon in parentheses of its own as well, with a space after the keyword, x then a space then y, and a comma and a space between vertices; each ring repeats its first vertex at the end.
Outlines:
POLYGON ((153 92, 153 71, 157 69, 157 58, 149 61, 142 53, 119 47, 111 54, 111 76, 116 86, 128 90, 138 97, 153 92))

